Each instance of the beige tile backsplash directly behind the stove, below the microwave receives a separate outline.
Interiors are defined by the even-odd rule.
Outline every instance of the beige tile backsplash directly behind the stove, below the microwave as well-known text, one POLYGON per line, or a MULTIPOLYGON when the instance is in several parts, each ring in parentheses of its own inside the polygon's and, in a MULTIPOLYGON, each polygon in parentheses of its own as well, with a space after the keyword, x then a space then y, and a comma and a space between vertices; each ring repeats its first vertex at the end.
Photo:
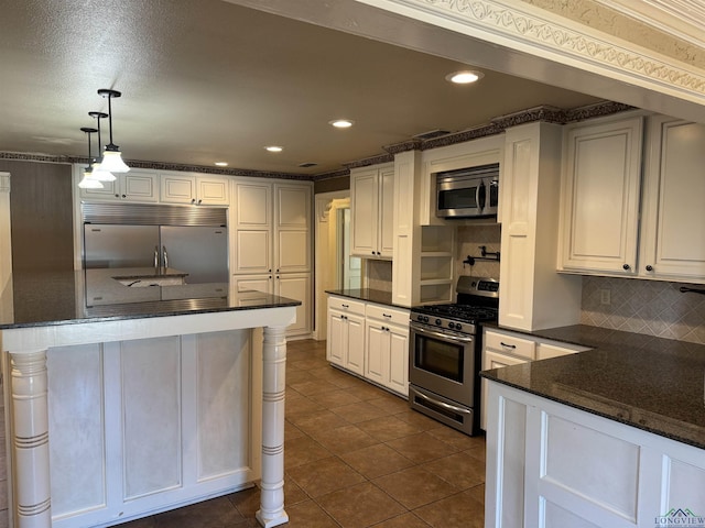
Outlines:
MULTIPOLYGON (((479 256, 480 245, 489 253, 500 250, 501 228, 498 223, 488 226, 459 226, 456 232, 455 276, 499 277, 499 262, 476 260, 475 265, 463 264, 468 256, 479 256)), ((455 288, 455 285, 453 285, 455 288)))

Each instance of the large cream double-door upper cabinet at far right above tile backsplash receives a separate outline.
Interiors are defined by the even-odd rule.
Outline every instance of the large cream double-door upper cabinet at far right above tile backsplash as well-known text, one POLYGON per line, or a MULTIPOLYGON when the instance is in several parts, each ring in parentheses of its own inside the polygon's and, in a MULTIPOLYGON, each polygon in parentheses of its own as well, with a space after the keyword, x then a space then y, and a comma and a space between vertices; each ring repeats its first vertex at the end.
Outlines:
POLYGON ((705 127, 643 120, 567 129, 560 271, 705 280, 705 127))

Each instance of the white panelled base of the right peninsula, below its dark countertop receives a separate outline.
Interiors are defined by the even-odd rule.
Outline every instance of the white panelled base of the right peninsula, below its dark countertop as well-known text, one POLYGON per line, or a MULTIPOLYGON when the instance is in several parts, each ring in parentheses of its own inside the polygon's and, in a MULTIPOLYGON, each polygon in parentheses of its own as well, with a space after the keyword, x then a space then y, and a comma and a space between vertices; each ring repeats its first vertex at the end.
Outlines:
POLYGON ((485 526, 703 526, 703 450, 489 382, 485 526))

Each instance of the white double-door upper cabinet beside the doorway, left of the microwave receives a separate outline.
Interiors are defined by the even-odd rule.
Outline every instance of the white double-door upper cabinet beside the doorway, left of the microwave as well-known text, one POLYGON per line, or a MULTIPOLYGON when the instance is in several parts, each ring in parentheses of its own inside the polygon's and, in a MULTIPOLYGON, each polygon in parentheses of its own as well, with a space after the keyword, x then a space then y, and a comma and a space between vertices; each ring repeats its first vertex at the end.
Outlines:
POLYGON ((350 170, 350 253, 391 258, 393 253, 394 166, 350 170))

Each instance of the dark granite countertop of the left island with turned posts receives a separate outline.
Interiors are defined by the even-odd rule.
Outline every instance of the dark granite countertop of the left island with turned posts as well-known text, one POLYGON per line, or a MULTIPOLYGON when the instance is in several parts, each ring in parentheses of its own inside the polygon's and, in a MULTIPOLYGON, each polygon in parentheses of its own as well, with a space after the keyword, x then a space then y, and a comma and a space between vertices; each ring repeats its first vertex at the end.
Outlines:
POLYGON ((167 280, 184 276, 172 270, 154 274, 153 268, 14 274, 0 292, 0 330, 301 305, 265 293, 236 292, 228 283, 167 280), (127 277, 144 278, 148 285, 120 282, 127 277), (165 285, 153 285, 160 279, 165 285))

